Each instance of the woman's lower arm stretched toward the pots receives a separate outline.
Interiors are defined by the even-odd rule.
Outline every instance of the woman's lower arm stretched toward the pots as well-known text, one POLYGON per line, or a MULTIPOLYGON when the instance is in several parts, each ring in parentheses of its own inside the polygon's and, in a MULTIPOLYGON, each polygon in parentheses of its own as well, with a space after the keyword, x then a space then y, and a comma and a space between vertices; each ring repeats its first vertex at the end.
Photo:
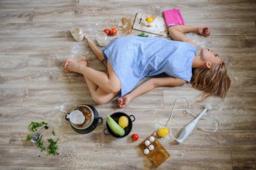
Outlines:
POLYGON ((117 103, 119 105, 119 108, 124 108, 126 105, 128 105, 131 99, 134 99, 135 97, 142 95, 143 93, 151 91, 156 87, 179 86, 183 85, 184 83, 186 83, 185 80, 174 77, 152 78, 148 81, 143 82, 141 85, 139 85, 139 87, 131 91, 131 93, 123 97, 119 97, 119 99, 117 99, 117 103))

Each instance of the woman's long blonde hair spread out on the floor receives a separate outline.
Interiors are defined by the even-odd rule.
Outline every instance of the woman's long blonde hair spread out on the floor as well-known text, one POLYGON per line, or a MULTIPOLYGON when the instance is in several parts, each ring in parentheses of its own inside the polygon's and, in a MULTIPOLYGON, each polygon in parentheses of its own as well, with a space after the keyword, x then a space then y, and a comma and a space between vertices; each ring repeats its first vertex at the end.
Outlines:
POLYGON ((211 69, 195 69, 190 81, 192 87, 203 91, 201 101, 211 95, 224 99, 230 88, 231 80, 227 75, 224 62, 222 65, 212 65, 211 69))

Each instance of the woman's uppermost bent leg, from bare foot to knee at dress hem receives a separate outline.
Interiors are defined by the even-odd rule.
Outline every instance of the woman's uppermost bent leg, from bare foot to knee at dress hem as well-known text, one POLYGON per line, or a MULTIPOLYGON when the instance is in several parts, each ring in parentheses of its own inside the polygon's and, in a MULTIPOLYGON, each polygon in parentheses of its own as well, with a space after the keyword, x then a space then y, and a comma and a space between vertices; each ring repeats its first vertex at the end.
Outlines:
POLYGON ((117 93, 121 89, 121 82, 110 65, 110 62, 107 63, 107 69, 108 74, 87 67, 82 64, 82 62, 69 62, 69 64, 67 64, 67 71, 73 71, 88 77, 93 83, 107 93, 117 93))

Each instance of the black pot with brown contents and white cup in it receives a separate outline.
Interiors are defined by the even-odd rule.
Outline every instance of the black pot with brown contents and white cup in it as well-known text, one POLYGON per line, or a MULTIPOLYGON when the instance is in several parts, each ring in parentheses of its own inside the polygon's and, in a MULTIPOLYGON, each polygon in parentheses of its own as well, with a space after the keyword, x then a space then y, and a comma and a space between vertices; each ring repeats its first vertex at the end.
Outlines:
POLYGON ((75 106, 69 114, 65 116, 66 120, 69 120, 71 128, 80 134, 88 134, 92 132, 99 124, 102 124, 103 119, 99 117, 97 110, 92 105, 80 104, 75 106), (70 120, 71 114, 74 112, 82 112, 84 121, 81 124, 75 124, 70 120))

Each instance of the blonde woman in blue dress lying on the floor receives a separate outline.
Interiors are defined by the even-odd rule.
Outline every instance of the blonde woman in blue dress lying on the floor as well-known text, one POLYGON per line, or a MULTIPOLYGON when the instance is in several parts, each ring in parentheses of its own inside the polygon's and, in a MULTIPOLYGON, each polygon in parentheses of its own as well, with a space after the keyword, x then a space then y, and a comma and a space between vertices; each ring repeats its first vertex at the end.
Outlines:
MULTIPOLYGON (((67 59, 65 71, 84 75, 96 103, 107 103, 119 94, 117 103, 120 108, 128 105, 131 99, 156 87, 179 86, 186 82, 203 91, 203 99, 211 95, 226 97, 231 81, 222 58, 208 48, 202 48, 196 55, 196 44, 184 34, 197 32, 201 36, 210 36, 210 29, 172 26, 168 32, 173 41, 138 36, 111 41, 102 50, 108 73, 88 67, 86 57, 67 59), (192 69, 195 69, 193 74, 192 69), (148 79, 133 89, 144 77, 160 73, 168 76, 148 79)), ((102 54, 97 54, 98 58, 99 55, 102 54)))

